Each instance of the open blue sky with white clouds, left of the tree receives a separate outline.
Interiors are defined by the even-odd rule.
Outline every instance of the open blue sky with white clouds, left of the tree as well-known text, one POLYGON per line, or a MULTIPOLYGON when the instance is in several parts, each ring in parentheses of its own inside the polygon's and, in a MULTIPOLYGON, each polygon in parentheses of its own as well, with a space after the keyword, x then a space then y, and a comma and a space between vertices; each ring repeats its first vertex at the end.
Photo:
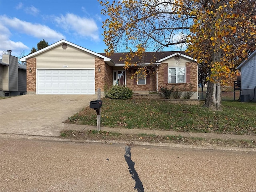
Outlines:
POLYGON ((0 55, 3 50, 27 55, 42 39, 104 52, 101 9, 97 0, 0 0, 0 55))

